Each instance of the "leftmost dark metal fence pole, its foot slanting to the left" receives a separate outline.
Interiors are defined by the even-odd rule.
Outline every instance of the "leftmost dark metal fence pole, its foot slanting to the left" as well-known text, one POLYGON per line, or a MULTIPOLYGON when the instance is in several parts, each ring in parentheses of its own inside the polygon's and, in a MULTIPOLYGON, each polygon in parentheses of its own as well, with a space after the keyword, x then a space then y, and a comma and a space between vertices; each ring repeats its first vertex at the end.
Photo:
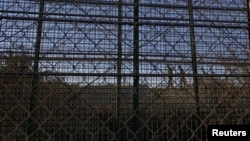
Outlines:
POLYGON ((44 0, 40 0, 39 7, 39 17, 37 21, 37 31, 36 31, 36 43, 35 43, 35 57, 34 57, 34 66, 33 66, 33 78, 32 78, 32 91, 30 96, 30 118, 28 120, 28 135, 32 133, 32 126, 34 125, 34 114, 33 110, 36 104, 36 94, 37 94, 37 86, 38 86, 38 67, 39 67, 39 55, 40 55, 40 46, 41 46, 41 38, 42 38, 42 25, 43 25, 43 12, 44 12, 44 0))

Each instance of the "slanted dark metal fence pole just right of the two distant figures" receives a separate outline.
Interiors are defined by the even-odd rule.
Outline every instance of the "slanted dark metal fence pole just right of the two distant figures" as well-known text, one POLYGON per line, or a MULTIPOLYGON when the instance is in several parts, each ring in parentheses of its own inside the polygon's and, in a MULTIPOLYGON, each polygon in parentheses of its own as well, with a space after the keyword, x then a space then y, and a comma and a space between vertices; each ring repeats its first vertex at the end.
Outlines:
MULTIPOLYGON (((194 17, 193 17, 193 4, 192 0, 188 0, 188 13, 189 13, 189 30, 190 30, 190 44, 192 52, 192 70, 193 70, 193 90, 195 96, 196 107, 196 125, 200 126, 200 98, 199 98, 199 83, 197 73, 197 59, 196 59, 196 44, 195 44, 195 31, 194 31, 194 17)), ((200 132, 197 132, 200 135, 200 132)), ((198 135, 198 137, 199 137, 198 135)))

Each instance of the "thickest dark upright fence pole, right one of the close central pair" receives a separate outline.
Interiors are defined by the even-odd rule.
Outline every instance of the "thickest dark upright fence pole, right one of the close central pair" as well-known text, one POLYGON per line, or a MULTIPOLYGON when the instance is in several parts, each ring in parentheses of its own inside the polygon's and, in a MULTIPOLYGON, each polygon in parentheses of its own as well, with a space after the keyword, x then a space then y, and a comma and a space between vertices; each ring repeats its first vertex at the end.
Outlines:
POLYGON ((134 0, 133 108, 135 140, 139 140, 139 0, 134 0))

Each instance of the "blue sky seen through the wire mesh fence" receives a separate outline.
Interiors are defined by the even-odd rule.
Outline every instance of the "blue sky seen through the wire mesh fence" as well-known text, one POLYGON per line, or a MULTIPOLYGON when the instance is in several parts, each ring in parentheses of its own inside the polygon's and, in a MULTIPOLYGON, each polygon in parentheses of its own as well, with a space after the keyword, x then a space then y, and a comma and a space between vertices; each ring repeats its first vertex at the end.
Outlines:
MULTIPOLYGON (((247 62, 250 51, 244 0, 193 0, 193 8, 198 73, 204 73, 203 69, 208 74, 225 74, 229 72, 220 61, 247 62)), ((34 54, 38 12, 36 1, 0 0, 1 55, 8 50, 34 54)), ((70 82, 114 84, 117 1, 47 1, 44 12, 40 71, 70 73, 72 77, 65 78, 70 82), (102 73, 111 76, 100 77, 102 73)), ((123 84, 133 81, 133 12, 133 0, 123 0, 123 84)), ((188 15, 185 0, 140 1, 140 83, 166 85, 167 65, 174 74, 179 73, 178 65, 192 74, 188 15)), ((177 77, 175 80, 178 83, 177 77)), ((191 77, 188 80, 191 82, 191 77)))

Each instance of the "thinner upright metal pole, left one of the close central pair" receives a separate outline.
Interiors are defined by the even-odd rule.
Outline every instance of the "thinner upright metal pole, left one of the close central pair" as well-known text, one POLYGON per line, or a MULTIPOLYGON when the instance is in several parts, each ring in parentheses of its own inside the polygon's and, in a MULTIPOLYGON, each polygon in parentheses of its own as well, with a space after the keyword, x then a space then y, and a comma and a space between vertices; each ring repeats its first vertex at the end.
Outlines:
MULTIPOLYGON (((118 1, 118 29, 117 29, 118 41, 117 41, 117 94, 116 94, 116 122, 117 130, 120 129, 120 99, 121 99, 121 81, 122 81, 122 0, 118 1)), ((122 135, 117 134, 117 139, 122 135)))

